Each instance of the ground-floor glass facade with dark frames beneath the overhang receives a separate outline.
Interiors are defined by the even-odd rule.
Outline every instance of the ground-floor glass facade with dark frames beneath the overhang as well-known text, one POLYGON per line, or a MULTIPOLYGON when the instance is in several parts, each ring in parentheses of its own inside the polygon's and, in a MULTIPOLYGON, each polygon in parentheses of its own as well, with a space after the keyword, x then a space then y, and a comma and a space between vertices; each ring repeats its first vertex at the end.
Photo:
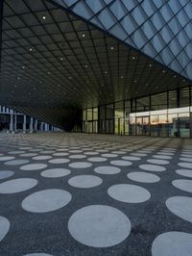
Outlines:
POLYGON ((170 90, 83 111, 83 131, 192 138, 192 88, 170 90))

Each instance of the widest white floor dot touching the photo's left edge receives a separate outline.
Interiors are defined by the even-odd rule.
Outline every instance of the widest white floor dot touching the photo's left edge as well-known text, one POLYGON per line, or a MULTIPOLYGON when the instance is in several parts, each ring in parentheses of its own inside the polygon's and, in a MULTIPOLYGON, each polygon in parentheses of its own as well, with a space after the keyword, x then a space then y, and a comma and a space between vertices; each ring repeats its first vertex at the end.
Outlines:
POLYGON ((19 178, 5 181, 0 184, 0 193, 24 192, 37 185, 37 180, 32 178, 19 178))

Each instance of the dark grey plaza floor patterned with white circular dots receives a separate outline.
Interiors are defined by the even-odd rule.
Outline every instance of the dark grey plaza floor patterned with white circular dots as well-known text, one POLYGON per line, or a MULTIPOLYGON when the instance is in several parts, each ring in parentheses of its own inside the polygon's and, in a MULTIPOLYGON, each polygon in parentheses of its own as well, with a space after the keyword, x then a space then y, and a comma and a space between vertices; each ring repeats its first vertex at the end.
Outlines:
POLYGON ((192 141, 0 134, 1 256, 191 256, 192 141))

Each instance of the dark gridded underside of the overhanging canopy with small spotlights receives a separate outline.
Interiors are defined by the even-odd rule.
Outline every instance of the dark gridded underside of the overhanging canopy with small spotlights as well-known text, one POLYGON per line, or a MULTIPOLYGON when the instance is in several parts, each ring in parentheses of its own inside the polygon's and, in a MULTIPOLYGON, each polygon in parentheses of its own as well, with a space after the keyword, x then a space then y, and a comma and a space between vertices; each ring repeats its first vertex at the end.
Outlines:
POLYGON ((5 0, 2 33, 1 105, 49 123, 190 82, 46 0, 5 0))

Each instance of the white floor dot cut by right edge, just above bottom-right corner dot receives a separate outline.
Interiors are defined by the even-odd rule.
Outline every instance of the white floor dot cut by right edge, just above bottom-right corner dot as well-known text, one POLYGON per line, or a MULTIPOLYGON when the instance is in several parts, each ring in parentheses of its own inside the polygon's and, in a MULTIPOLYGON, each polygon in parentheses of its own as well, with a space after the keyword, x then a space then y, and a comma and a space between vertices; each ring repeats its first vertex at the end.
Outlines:
POLYGON ((188 196, 173 196, 165 202, 174 215, 192 222, 192 198, 188 196))

